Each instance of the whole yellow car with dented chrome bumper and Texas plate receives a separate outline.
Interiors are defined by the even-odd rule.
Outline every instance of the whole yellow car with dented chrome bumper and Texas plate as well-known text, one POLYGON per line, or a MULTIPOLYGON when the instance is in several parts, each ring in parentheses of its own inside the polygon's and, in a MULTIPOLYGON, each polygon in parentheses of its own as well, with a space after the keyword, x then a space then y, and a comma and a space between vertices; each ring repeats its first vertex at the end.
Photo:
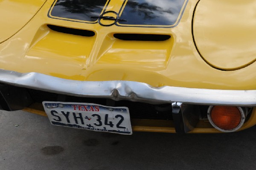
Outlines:
POLYGON ((255 12, 255 0, 0 0, 1 109, 120 134, 252 127, 255 12))

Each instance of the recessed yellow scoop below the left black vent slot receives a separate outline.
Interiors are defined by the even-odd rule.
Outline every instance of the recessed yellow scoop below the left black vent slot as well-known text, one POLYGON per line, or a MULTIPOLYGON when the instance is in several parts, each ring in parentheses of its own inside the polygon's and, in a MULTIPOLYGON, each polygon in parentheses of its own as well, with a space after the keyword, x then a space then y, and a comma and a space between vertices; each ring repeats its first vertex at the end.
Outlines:
POLYGON ((42 72, 47 67, 55 76, 58 75, 57 70, 81 70, 86 65, 95 37, 56 32, 47 26, 41 26, 23 62, 35 72, 42 72))

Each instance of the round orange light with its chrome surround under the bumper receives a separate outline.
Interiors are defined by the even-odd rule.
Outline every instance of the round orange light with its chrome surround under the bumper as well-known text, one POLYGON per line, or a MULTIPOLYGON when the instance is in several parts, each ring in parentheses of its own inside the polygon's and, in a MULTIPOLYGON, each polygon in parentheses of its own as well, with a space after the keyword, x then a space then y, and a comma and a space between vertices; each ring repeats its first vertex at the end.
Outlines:
POLYGON ((247 108, 236 106, 210 106, 207 112, 209 122, 222 132, 234 132, 243 124, 247 108))

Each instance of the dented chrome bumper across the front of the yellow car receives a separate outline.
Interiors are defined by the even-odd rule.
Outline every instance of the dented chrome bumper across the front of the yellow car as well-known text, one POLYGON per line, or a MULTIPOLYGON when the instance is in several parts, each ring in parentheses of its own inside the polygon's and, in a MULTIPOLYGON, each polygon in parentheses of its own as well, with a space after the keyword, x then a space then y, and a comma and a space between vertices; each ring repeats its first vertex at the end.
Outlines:
POLYGON ((41 73, 19 73, 0 69, 0 82, 64 95, 113 100, 140 101, 151 104, 182 102, 201 105, 256 106, 256 90, 194 89, 152 87, 134 81, 74 81, 41 73))

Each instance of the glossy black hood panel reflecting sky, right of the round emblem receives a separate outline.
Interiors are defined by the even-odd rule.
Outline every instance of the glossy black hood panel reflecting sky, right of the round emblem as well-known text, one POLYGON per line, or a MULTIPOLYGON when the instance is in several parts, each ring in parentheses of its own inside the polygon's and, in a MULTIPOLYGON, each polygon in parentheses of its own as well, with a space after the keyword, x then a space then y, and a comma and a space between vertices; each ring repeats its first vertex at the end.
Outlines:
POLYGON ((121 19, 130 25, 173 25, 185 0, 128 0, 121 19))

